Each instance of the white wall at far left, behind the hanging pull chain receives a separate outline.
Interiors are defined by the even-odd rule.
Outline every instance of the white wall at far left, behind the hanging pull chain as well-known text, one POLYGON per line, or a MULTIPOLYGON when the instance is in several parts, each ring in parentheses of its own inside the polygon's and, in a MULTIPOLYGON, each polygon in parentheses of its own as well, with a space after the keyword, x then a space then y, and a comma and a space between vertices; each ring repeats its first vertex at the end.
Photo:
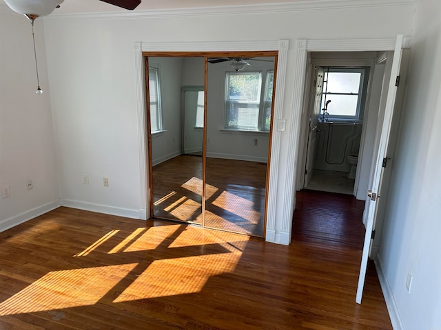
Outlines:
POLYGON ((39 96, 30 23, 0 3, 0 188, 10 187, 10 197, 0 194, 0 231, 59 206, 42 23, 34 26, 39 96))

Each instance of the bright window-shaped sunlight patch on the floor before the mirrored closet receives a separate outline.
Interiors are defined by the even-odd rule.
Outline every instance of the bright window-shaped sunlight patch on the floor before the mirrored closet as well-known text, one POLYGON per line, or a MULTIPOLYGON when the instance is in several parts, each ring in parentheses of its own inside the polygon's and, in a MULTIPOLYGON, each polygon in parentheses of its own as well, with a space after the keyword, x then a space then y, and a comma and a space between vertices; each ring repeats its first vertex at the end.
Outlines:
POLYGON ((0 316, 200 292, 210 276, 234 272, 249 240, 186 225, 122 233, 111 230, 72 256, 90 262, 106 255, 114 265, 48 272, 0 303, 0 316))

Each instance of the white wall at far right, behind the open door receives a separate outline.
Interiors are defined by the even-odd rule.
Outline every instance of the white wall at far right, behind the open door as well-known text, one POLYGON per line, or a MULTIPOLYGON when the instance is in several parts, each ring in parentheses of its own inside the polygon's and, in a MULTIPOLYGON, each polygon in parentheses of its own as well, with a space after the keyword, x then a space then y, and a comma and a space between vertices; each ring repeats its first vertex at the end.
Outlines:
POLYGON ((441 329, 441 3, 422 0, 414 23, 379 264, 397 329, 441 329), (413 274, 407 293, 408 272, 413 274))

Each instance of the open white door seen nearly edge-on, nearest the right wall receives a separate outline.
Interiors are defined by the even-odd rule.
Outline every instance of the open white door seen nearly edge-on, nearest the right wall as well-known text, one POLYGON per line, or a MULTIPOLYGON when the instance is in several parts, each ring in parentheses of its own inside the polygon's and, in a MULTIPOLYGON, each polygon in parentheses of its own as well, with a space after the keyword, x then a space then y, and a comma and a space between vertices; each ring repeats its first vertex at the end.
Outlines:
POLYGON ((389 89, 387 91, 386 107, 384 109, 384 119, 381 127, 380 142, 378 146, 378 154, 376 155, 375 168, 373 171, 373 180, 371 189, 368 192, 368 198, 370 198, 369 206, 367 209, 367 221, 366 221, 366 234, 365 244, 363 245, 363 253, 360 266, 360 276, 358 278, 356 303, 361 303, 363 287, 365 286, 365 277, 367 269, 367 261, 369 256, 369 250, 372 243, 372 230, 375 225, 377 200, 380 197, 380 188, 382 181, 382 164, 383 159, 387 157, 386 151, 389 143, 389 135, 391 131, 393 108, 396 100, 397 82, 399 80, 398 75, 400 72, 401 56, 402 56, 402 41, 403 36, 397 37, 395 50, 393 52, 393 61, 391 68, 391 78, 389 81, 389 89))

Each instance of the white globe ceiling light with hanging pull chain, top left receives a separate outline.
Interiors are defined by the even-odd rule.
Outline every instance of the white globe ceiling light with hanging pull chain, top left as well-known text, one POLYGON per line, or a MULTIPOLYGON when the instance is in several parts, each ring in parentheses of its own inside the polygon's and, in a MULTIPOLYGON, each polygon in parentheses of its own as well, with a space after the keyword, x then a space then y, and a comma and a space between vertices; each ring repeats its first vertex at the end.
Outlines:
POLYGON ((35 50, 35 36, 34 36, 34 21, 41 16, 46 16, 52 13, 55 8, 58 8, 64 0, 5 0, 6 4, 19 14, 25 15, 32 26, 32 41, 34 41, 34 58, 35 69, 37 70, 37 94, 43 94, 40 88, 39 68, 37 65, 37 51, 35 50))

